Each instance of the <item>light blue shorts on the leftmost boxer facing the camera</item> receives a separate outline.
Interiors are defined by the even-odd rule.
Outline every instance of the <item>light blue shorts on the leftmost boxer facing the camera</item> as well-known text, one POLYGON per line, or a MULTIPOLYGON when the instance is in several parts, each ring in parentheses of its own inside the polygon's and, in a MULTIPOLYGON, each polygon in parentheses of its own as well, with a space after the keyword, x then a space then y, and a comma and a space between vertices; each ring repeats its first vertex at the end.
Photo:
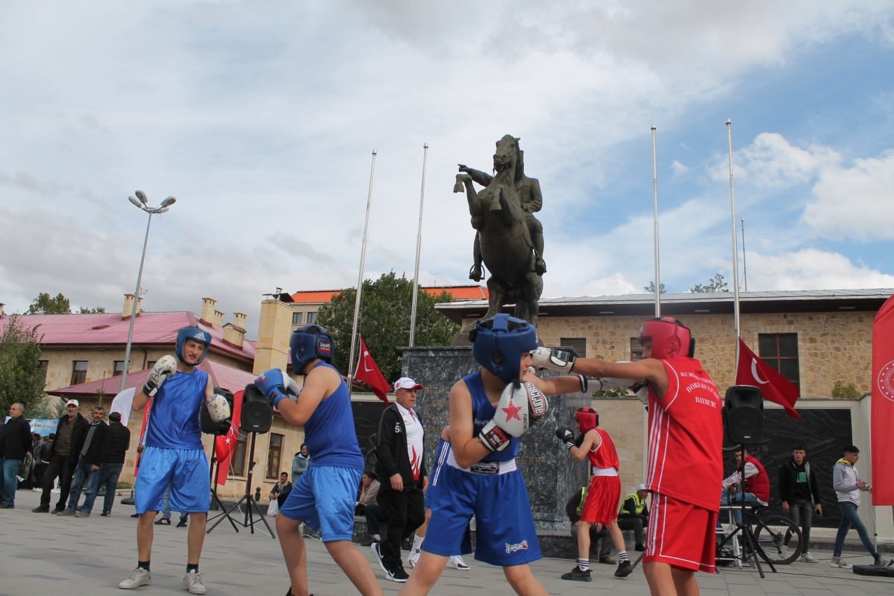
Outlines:
POLYGON ((172 511, 207 514, 211 503, 208 458, 202 449, 145 447, 133 487, 137 513, 162 510, 162 496, 171 485, 172 511))

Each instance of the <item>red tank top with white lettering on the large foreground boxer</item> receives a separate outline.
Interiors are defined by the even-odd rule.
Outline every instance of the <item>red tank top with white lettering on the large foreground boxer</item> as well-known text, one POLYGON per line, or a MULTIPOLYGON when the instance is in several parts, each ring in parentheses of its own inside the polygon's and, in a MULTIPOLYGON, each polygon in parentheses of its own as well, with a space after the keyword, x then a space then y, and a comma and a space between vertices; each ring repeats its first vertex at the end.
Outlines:
POLYGON ((685 503, 720 510, 723 481, 721 396, 694 358, 662 360, 668 391, 649 387, 648 489, 685 503))

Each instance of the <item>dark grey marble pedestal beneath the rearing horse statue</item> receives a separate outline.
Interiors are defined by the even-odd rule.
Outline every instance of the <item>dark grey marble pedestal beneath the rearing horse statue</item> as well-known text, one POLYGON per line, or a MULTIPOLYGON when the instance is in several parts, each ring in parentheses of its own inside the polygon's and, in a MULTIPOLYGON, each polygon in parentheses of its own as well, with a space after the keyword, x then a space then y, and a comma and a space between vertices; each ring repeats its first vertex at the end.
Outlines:
MULTIPOLYGON (((451 387, 480 368, 472 358, 471 346, 405 347, 402 374, 425 386, 419 394, 416 412, 426 428, 426 463, 431 467, 441 431, 450 423, 448 397, 451 387)), ((550 396, 544 421, 521 438, 518 464, 525 478, 537 537, 544 557, 576 557, 577 546, 569 534, 565 503, 571 494, 586 485, 587 464, 569 456, 568 449, 555 438, 560 426, 574 426, 574 411, 590 405, 582 393, 550 396)))

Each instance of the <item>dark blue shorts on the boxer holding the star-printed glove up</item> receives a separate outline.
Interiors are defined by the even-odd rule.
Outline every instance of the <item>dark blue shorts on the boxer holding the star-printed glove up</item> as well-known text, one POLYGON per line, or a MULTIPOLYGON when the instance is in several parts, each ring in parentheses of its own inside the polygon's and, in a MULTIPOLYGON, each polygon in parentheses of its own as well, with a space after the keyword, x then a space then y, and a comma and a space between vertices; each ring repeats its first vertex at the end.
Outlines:
POLYGON ((476 464, 476 468, 486 473, 464 472, 451 464, 441 467, 422 549, 442 557, 468 552, 461 543, 475 515, 476 560, 516 566, 540 559, 527 488, 515 461, 476 464))

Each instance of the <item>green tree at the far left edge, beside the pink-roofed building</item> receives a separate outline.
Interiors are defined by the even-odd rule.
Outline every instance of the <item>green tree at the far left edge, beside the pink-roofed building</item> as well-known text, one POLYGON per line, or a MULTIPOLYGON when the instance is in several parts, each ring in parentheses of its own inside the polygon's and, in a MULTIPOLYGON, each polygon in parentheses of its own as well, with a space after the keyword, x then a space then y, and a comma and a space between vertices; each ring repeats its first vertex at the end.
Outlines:
POLYGON ((28 328, 19 315, 12 315, 0 337, 0 407, 7 412, 19 402, 34 417, 35 411, 46 410, 44 383, 38 328, 28 328))

